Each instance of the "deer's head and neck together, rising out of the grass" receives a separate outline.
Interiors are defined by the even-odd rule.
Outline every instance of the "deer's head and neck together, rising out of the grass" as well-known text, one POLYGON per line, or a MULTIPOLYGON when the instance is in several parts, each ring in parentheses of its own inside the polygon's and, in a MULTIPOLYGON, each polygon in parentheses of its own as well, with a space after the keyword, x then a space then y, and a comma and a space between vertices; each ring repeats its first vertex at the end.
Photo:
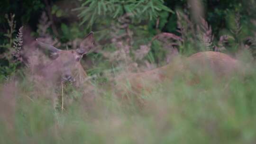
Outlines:
POLYGON ((46 97, 52 100, 55 107, 59 95, 55 91, 63 89, 65 83, 71 83, 82 89, 82 101, 86 105, 93 103, 96 98, 95 88, 80 63, 83 55, 94 47, 93 32, 85 36, 78 49, 61 50, 38 39, 35 43, 40 51, 46 51, 52 57, 48 63, 33 70, 32 79, 36 83, 37 91, 46 92, 46 97))

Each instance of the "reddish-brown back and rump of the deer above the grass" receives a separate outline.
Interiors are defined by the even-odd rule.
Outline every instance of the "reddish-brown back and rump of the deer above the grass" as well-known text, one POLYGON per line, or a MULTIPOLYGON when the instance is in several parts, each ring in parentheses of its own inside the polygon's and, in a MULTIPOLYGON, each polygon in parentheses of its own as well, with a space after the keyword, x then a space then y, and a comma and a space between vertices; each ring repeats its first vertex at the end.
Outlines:
MULTIPOLYGON (((116 78, 117 95, 124 96, 141 95, 141 92, 150 92, 157 84, 164 81, 171 82, 174 76, 185 76, 187 73, 193 74, 193 78, 187 78, 188 84, 200 82, 200 77, 208 72, 213 74, 215 79, 229 78, 232 74, 242 72, 242 64, 238 60, 227 54, 219 52, 201 52, 193 54, 188 58, 177 58, 168 65, 156 68, 148 72, 130 73, 116 78)), ((139 97, 141 104, 144 103, 139 97)))

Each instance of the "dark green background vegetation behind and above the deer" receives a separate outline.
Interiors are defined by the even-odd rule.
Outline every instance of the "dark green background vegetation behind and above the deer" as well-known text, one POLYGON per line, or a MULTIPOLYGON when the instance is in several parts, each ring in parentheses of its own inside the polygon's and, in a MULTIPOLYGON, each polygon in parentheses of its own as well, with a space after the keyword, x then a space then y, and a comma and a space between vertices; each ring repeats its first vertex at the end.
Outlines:
MULTIPOLYGON (((254 54, 252 41, 255 31, 252 29, 255 29, 255 24, 253 24, 255 2, 253 0, 202 0, 199 7, 195 9, 202 9, 203 11, 195 13, 195 15, 204 18, 206 20, 204 23, 200 18, 199 21, 193 19, 191 11, 194 6, 187 0, 152 0, 153 5, 150 4, 150 1, 1 0, 0 44, 10 43, 10 39, 5 36, 9 29, 6 14, 9 16, 14 14, 16 32, 11 34, 12 39, 15 38, 21 26, 29 27, 31 29, 30 34, 34 38, 43 36, 38 30, 40 29, 39 26, 42 25, 45 27, 47 36, 57 40, 59 42, 58 47, 62 49, 67 46, 75 48, 70 45, 74 40, 94 31, 96 43, 101 46, 101 49, 117 50, 120 46, 128 45, 129 51, 133 52, 128 55, 132 56, 133 60, 146 59, 149 63, 160 63, 160 65, 169 62, 169 60, 165 61, 165 57, 170 59, 172 52, 166 52, 170 51, 170 47, 175 48, 180 54, 187 55, 198 51, 217 50, 218 48, 218 51, 225 51, 234 55, 239 49, 242 49, 241 45, 243 44, 249 45, 252 54, 254 54), (133 3, 138 3, 136 8, 131 5, 133 3), (46 23, 40 24, 39 20, 42 18, 43 12, 46 13, 45 22, 50 22, 49 26, 46 26, 46 23), (132 13, 132 16, 126 17, 126 14, 129 13, 132 13), (177 13, 180 13, 180 18, 177 17, 177 13), (204 27, 202 32, 199 32, 197 28, 200 25, 204 27), (183 41, 172 40, 172 37, 169 37, 170 40, 167 36, 168 40, 165 39, 162 43, 154 41, 150 45, 149 53, 142 54, 143 57, 134 56, 135 50, 139 49, 140 45, 148 45, 154 36, 163 32, 180 36, 183 41), (208 36, 208 40, 207 37, 206 40, 200 38, 199 35, 202 36, 202 33, 208 36), (221 36, 223 37, 221 38, 221 36), (208 46, 202 50, 201 45, 197 43, 198 40, 209 44, 206 44, 208 46), (115 45, 119 41, 121 44, 115 45), (163 43, 165 43, 164 46, 163 43), (175 45, 170 43, 175 43, 175 45), (166 48, 168 46, 169 49, 166 48), (225 50, 221 48, 225 48, 225 50)), ((11 46, 1 46, 0 54, 8 53, 11 46)), ((94 53, 89 56, 98 60, 102 58, 101 53, 94 53)), ((105 58, 106 56, 107 54, 105 54, 105 58)), ((1 77, 6 77, 14 72, 18 65, 12 64, 10 59, 1 56, 0 66, 1 77)))

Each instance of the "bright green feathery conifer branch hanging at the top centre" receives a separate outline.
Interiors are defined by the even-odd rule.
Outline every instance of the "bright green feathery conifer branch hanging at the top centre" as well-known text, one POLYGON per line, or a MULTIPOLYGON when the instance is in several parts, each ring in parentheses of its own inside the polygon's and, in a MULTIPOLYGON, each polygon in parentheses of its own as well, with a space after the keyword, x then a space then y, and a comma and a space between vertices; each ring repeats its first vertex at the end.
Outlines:
POLYGON ((164 0, 86 0, 76 10, 81 11, 78 15, 81 23, 88 22, 88 26, 92 26, 97 19, 106 16, 119 18, 128 14, 133 21, 140 22, 158 18, 161 11, 173 12, 163 3, 164 0))

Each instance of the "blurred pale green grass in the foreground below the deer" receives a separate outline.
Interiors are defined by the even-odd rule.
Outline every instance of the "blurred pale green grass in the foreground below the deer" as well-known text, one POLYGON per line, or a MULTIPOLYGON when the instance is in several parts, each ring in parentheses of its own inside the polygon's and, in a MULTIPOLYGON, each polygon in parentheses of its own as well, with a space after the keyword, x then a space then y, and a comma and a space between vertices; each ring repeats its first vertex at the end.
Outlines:
MULTIPOLYGON (((120 103, 106 91, 94 108, 73 102, 62 113, 41 98, 26 78, 15 85, 10 88, 18 89, 13 103, 6 100, 0 106, 0 144, 256 143, 253 68, 250 75, 230 80, 216 81, 208 75, 195 85, 180 77, 163 81, 151 93, 142 94, 143 108, 133 100, 120 103)), ((79 95, 72 91, 68 97, 79 95)))

